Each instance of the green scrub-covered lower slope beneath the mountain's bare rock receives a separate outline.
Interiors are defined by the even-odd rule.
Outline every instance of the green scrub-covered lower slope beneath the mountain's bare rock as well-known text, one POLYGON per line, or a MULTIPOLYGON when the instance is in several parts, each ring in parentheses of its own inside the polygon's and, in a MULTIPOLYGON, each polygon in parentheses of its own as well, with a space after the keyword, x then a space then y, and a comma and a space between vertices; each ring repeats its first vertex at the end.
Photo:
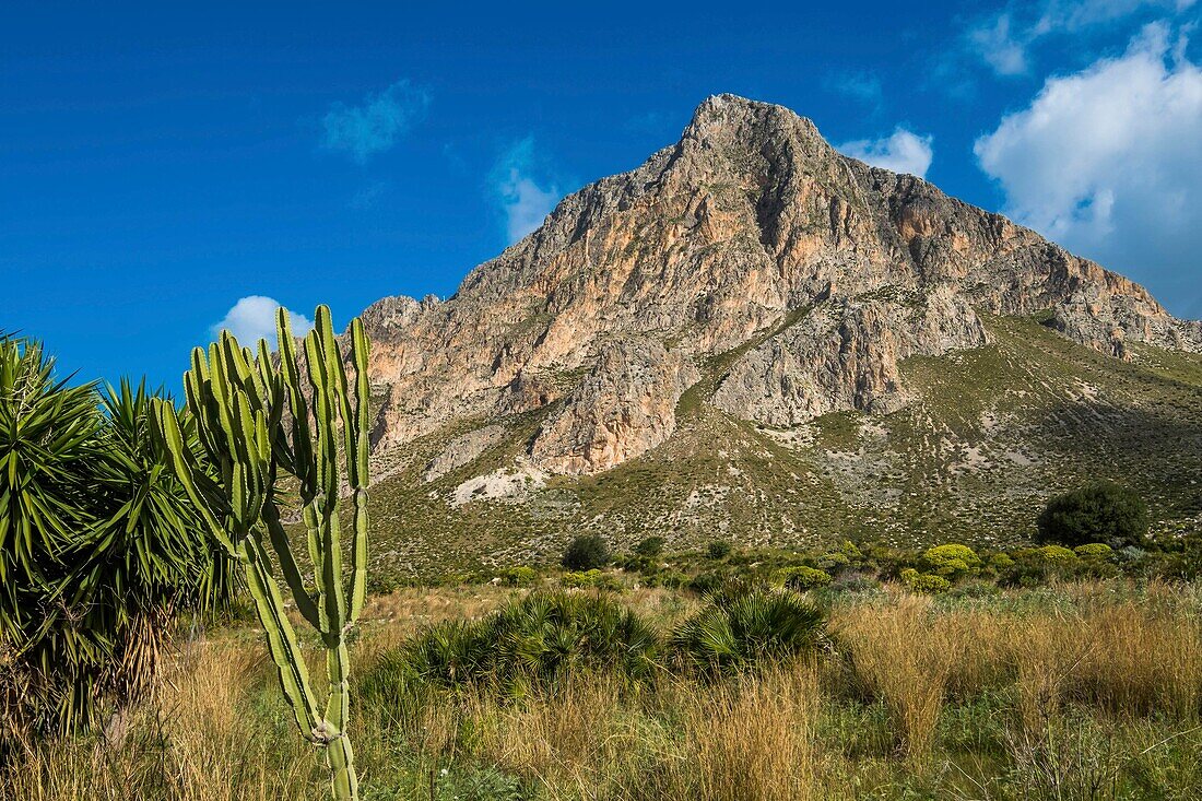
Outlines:
MULTIPOLYGON (((786 321, 787 322, 787 321, 786 321)), ((512 467, 540 413, 426 482, 424 465, 469 421, 413 443, 374 488, 376 588, 506 564, 547 564, 596 532, 619 548, 662 534, 673 550, 715 536, 808 547, 852 539, 910 547, 1023 542, 1047 498, 1097 479, 1132 485, 1154 533, 1202 526, 1202 357, 1137 349, 1120 362, 1035 319, 989 318, 993 343, 903 364, 909 405, 773 429, 709 403, 737 352, 702 366, 661 446, 607 473, 549 477, 516 497, 452 506, 462 482, 512 467)))

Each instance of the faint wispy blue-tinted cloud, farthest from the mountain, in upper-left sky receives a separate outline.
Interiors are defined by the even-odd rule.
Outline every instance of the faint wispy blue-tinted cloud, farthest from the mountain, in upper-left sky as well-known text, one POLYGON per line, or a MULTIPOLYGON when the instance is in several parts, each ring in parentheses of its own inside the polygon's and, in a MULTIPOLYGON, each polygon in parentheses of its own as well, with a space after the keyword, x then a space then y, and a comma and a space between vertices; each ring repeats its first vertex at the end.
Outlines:
POLYGON ((430 95, 409 81, 398 81, 361 106, 334 103, 322 118, 322 143, 349 154, 359 164, 388 150, 426 117, 430 95))

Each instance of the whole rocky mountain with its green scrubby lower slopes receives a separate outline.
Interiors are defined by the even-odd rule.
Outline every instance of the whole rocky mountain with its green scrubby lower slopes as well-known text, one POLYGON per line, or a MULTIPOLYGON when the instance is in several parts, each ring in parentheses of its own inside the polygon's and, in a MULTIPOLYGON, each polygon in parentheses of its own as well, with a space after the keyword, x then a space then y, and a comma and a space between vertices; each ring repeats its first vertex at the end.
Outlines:
POLYGON ((1202 324, 780 106, 706 100, 452 298, 362 316, 401 572, 582 529, 1013 540, 1101 476, 1202 517, 1202 324))

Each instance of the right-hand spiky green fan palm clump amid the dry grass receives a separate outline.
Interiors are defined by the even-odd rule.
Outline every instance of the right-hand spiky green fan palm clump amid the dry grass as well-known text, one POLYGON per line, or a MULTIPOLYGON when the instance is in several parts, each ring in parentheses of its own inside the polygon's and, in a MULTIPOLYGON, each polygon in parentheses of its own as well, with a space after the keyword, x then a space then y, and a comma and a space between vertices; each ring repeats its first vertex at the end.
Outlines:
POLYGON ((710 675, 813 652, 825 639, 826 617, 789 591, 752 589, 714 597, 672 635, 672 648, 710 675))

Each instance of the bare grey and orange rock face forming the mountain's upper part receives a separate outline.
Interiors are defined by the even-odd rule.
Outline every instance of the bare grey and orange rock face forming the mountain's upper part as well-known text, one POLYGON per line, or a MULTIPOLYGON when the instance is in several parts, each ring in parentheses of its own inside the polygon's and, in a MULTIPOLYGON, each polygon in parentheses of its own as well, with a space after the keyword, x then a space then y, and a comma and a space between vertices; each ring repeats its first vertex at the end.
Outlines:
POLYGON ((1131 343, 1202 350, 1202 326, 1142 286, 845 158, 786 108, 720 95, 677 144, 564 198, 453 298, 368 308, 386 390, 374 441, 541 409, 534 468, 596 473, 671 434, 708 360, 732 358, 713 403, 743 419, 888 413, 908 399, 900 360, 984 344, 978 314, 1036 313, 1119 358, 1131 343))

